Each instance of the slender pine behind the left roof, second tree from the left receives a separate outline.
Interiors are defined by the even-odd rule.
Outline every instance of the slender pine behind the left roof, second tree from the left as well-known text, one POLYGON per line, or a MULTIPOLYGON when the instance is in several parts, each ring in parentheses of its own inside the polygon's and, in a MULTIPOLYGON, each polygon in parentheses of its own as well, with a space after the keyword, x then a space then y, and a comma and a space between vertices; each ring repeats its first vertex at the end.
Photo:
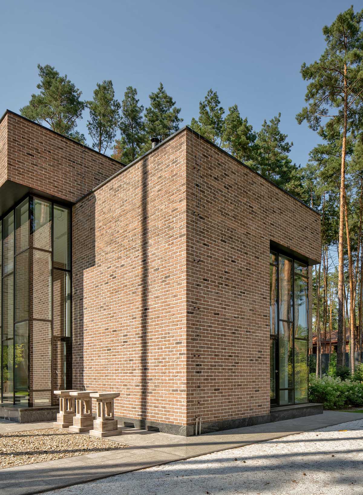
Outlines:
POLYGON ((93 99, 87 101, 90 120, 87 121, 88 132, 93 141, 93 148, 101 153, 112 143, 120 120, 120 103, 115 99, 112 81, 97 83, 93 99))

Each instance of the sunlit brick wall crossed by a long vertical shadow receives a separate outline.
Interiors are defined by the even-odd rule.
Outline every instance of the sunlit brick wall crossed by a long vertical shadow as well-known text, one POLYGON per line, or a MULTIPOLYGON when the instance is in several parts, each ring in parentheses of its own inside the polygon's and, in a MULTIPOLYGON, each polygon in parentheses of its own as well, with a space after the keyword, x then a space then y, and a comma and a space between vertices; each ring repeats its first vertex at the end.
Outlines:
POLYGON ((186 423, 186 131, 73 207, 73 388, 186 423))

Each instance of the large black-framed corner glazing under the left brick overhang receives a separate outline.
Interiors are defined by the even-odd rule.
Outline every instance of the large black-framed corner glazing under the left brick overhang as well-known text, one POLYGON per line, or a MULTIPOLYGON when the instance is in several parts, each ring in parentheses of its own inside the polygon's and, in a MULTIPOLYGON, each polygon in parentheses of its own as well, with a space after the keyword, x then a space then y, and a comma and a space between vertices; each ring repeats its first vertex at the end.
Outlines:
POLYGON ((69 208, 30 196, 0 219, 1 401, 51 405, 71 385, 69 208))

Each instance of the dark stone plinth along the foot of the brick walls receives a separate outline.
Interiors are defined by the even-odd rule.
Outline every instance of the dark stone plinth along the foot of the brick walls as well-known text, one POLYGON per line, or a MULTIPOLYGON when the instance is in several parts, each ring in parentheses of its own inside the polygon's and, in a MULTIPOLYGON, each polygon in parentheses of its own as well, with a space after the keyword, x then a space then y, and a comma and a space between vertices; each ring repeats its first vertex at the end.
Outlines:
MULTIPOLYGON (((314 414, 322 414, 323 405, 315 403, 298 404, 292 406, 282 406, 271 408, 270 414, 261 416, 252 416, 249 418, 227 419, 223 421, 213 421, 211 423, 202 423, 202 434, 213 433, 225 430, 233 430, 235 428, 243 428, 246 426, 255 426, 264 423, 275 421, 284 421, 286 419, 302 418, 304 416, 312 416, 314 414)), ((130 426, 143 430, 155 430, 161 433, 169 433, 171 435, 180 435, 182 437, 191 437, 195 434, 195 425, 173 425, 168 423, 157 423, 156 421, 147 421, 140 419, 132 419, 125 417, 117 417, 120 426, 130 426)))

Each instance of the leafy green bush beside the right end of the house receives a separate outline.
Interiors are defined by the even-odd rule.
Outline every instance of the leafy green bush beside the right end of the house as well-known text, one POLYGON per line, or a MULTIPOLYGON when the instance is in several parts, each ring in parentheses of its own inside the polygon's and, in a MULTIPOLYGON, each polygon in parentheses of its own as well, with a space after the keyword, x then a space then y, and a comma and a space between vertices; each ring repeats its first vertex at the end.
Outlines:
MULTIPOLYGON (((360 370, 362 367, 358 367, 360 370)), ((309 377, 310 402, 322 402, 324 409, 342 409, 348 406, 363 405, 363 381, 344 380, 324 375, 309 377)))

